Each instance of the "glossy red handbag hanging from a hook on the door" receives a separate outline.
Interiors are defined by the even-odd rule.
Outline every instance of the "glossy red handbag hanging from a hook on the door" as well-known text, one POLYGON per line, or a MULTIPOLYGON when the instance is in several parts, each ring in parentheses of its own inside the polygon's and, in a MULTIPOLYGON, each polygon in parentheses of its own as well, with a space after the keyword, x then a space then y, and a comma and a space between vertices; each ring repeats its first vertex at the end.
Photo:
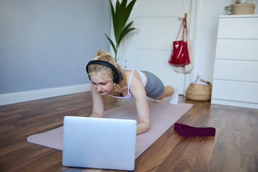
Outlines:
POLYGON ((184 66, 190 63, 188 46, 187 46, 186 19, 183 19, 180 29, 177 33, 176 39, 175 41, 173 41, 173 50, 169 59, 169 63, 175 66, 184 66), (181 29, 182 29, 182 40, 177 41, 177 37, 181 29), (184 37, 184 34, 186 34, 186 37, 184 37), (186 41, 184 41, 184 38, 186 38, 186 41))

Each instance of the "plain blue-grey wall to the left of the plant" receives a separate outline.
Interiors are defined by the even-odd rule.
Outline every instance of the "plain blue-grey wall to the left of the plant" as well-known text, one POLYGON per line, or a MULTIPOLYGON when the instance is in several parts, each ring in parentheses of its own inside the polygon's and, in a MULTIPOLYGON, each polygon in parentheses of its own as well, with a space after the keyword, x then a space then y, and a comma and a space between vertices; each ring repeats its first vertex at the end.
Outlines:
POLYGON ((0 94, 89 83, 110 29, 108 0, 0 0, 0 94))

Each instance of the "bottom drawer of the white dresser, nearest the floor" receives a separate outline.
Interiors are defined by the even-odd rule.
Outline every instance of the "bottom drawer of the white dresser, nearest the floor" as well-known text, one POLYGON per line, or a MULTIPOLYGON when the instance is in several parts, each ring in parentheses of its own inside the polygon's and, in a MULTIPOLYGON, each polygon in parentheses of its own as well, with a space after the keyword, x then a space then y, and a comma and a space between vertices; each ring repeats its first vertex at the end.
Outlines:
POLYGON ((258 83, 214 79, 211 98, 258 103, 258 83))

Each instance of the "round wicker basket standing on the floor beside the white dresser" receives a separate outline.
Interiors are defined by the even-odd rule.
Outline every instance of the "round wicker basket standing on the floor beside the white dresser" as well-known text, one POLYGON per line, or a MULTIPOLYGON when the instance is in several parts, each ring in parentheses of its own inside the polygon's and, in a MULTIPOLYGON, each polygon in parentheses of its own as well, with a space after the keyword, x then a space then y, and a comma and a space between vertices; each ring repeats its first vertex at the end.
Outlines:
POLYGON ((212 85, 208 81, 203 81, 208 85, 191 83, 186 89, 186 98, 190 100, 208 101, 211 99, 212 85))

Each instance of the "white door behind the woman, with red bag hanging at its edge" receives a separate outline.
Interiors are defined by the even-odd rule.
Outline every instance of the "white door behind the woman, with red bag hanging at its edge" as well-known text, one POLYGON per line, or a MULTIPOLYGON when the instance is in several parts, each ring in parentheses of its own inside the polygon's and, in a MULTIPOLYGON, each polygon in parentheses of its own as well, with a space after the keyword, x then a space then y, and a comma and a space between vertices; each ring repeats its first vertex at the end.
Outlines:
POLYGON ((189 21, 191 15, 195 16, 195 6, 196 0, 137 0, 128 22, 134 21, 132 27, 139 31, 130 32, 122 40, 118 63, 125 68, 150 71, 165 86, 177 87, 179 94, 184 94, 190 77, 174 72, 168 60, 182 22, 178 18, 187 13, 188 27, 194 28, 194 22, 189 21))

